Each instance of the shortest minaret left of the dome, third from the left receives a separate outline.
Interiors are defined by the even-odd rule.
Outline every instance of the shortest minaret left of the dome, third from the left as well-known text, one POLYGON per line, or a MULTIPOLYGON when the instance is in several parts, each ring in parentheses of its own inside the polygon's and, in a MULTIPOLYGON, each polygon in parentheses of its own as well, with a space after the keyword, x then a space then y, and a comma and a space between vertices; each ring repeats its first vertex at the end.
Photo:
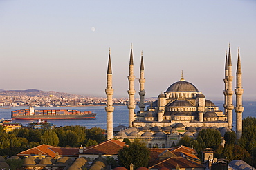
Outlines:
POLYGON ((143 64, 143 52, 141 52, 141 61, 140 61, 140 112, 144 111, 145 108, 145 90, 144 90, 144 83, 145 83, 145 78, 144 78, 144 64, 143 64))

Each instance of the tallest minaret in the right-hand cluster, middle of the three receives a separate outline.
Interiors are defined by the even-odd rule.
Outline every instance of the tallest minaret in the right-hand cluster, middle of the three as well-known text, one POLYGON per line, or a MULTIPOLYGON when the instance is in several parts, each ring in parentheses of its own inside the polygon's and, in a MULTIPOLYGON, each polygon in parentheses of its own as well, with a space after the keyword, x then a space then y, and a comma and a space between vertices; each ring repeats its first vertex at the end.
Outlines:
POLYGON ((227 81, 228 81, 228 89, 227 89, 227 96, 228 96, 228 102, 227 102, 227 114, 228 114, 228 128, 232 129, 232 121, 233 121, 233 101, 232 101, 232 96, 233 96, 233 90, 232 90, 232 61, 231 61, 231 52, 230 52, 230 45, 228 47, 228 76, 227 76, 227 81))

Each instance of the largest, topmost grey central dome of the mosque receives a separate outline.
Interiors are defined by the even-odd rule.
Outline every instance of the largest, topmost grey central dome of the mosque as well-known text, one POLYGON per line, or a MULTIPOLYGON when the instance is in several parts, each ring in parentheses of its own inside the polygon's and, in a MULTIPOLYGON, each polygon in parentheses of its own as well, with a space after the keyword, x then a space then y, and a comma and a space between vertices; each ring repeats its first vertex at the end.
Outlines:
POLYGON ((199 92, 199 90, 188 81, 177 81, 170 85, 166 92, 199 92))

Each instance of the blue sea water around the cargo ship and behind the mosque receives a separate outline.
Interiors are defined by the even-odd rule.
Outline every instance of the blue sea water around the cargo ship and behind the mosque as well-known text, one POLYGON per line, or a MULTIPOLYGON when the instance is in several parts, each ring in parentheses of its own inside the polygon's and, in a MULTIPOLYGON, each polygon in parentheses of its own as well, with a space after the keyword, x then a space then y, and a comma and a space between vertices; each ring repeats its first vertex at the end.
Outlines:
MULTIPOLYGON (((219 106, 219 109, 223 111, 223 101, 213 101, 213 103, 219 106)), ((91 127, 100 127, 106 129, 107 115, 105 111, 106 106, 86 106, 86 107, 35 107, 35 109, 73 109, 78 111, 92 111, 97 113, 96 119, 85 119, 85 120, 48 120, 48 123, 53 123, 55 126, 70 126, 70 125, 81 125, 90 129, 91 127)), ((116 105, 113 106, 113 127, 118 125, 125 125, 128 127, 128 109, 127 105, 116 105)), ((244 113, 243 118, 248 116, 256 117, 256 101, 244 101, 243 102, 244 113)), ((28 109, 28 107, 11 107, 8 109, 0 109, 0 119, 11 119, 10 114, 13 110, 28 109)), ((135 112, 139 110, 136 106, 135 112)), ((32 123, 35 120, 12 120, 14 123, 21 123, 26 126, 28 123, 32 123)), ((233 111, 233 129, 235 130, 235 111, 233 111)))

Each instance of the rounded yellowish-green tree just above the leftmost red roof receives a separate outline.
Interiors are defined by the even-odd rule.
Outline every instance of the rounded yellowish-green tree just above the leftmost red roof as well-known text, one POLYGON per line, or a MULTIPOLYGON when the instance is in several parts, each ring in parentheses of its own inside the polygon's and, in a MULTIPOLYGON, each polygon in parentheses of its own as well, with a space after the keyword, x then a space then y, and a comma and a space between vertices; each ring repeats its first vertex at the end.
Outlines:
POLYGON ((48 130, 48 131, 44 131, 44 134, 41 136, 41 142, 46 145, 57 147, 59 145, 59 138, 55 133, 55 131, 48 130))

